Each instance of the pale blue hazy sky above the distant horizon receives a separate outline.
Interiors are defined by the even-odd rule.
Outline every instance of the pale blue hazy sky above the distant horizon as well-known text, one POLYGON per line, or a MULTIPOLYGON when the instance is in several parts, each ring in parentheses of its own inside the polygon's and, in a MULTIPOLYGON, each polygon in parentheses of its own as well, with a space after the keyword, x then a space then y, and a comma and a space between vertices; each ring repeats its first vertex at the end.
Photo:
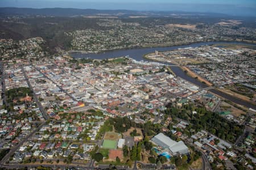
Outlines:
POLYGON ((256 16, 256 0, 0 0, 0 7, 189 11, 256 16))

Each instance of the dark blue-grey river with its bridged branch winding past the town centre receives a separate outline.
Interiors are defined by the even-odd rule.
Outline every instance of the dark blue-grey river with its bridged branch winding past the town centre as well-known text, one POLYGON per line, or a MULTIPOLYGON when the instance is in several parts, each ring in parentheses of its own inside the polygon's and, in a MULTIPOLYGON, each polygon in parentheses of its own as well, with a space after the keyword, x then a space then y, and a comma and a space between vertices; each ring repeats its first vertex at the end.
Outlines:
MULTIPOLYGON (((121 49, 121 50, 110 50, 108 52, 104 53, 71 53, 70 55, 74 58, 93 58, 93 59, 106 59, 106 58, 115 58, 115 57, 122 57, 122 56, 129 56, 130 58, 134 58, 137 61, 149 61, 146 58, 143 58, 144 54, 148 53, 154 53, 155 50, 158 50, 159 52, 164 52, 168 50, 175 50, 179 48, 195 48, 198 46, 202 45, 214 45, 214 44, 234 44, 234 45, 253 45, 256 46, 255 44, 249 44, 246 42, 225 42, 225 41, 220 41, 220 42, 198 42, 190 45, 179 45, 179 46, 168 46, 168 47, 158 47, 158 48, 141 48, 141 49, 121 49)), ((168 65, 174 65, 173 63, 166 63, 168 65)), ((180 67, 172 67, 172 71, 179 76, 180 78, 183 78, 185 80, 188 80, 191 83, 196 84, 197 86, 201 88, 208 87, 206 84, 203 84, 199 81, 197 81, 195 78, 192 78, 191 76, 188 76, 187 74, 184 73, 183 70, 180 69, 180 67)), ((253 108, 256 109, 256 106, 247 102, 243 101, 240 99, 237 99, 236 97, 230 96, 228 94, 225 94, 223 92, 217 91, 217 90, 209 90, 210 92, 217 94, 221 97, 224 97, 225 99, 228 99, 236 104, 243 105, 247 108, 253 108)))

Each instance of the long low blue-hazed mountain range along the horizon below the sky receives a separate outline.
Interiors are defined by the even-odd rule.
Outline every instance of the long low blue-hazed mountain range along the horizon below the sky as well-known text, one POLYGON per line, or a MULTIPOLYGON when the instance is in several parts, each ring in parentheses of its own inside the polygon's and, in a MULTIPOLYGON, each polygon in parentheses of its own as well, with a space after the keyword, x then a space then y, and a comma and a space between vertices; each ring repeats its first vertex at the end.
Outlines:
POLYGON ((182 11, 133 11, 133 10, 94 10, 94 9, 77 9, 77 8, 16 8, 2 7, 0 8, 1 16, 19 15, 19 16, 82 16, 82 15, 116 15, 119 17, 126 16, 214 16, 223 17, 226 14, 210 13, 210 12, 182 12, 182 11))

